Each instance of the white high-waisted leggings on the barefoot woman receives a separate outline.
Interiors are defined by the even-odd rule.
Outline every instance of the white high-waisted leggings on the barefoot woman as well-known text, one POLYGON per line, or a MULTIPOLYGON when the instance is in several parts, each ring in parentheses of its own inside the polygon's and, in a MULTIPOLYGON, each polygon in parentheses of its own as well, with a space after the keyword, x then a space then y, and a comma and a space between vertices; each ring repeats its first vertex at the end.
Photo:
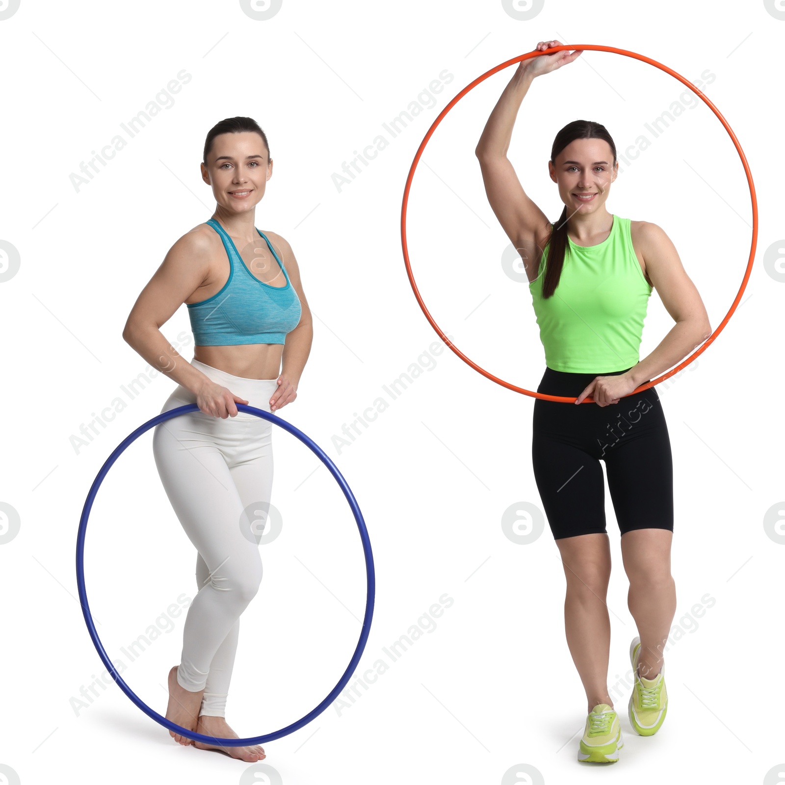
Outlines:
MULTIPOLYGON (((276 379, 246 379, 191 362, 250 406, 270 411, 276 379)), ((177 385, 161 411, 195 402, 177 385)), ((198 551, 199 591, 185 619, 177 682, 205 691, 199 714, 211 717, 225 716, 239 616, 261 582, 258 542, 272 491, 272 428, 242 411, 226 419, 195 411, 156 425, 153 435, 166 495, 198 551)))

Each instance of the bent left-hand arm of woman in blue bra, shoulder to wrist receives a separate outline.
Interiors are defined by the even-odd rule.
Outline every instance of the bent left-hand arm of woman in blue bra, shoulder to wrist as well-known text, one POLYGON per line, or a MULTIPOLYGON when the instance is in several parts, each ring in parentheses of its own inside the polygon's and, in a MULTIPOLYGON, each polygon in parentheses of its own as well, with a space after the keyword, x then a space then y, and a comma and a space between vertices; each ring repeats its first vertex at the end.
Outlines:
POLYGON ((194 394, 211 380, 178 354, 159 328, 191 297, 209 270, 210 243, 199 229, 193 229, 170 248, 122 330, 122 338, 144 360, 194 394))

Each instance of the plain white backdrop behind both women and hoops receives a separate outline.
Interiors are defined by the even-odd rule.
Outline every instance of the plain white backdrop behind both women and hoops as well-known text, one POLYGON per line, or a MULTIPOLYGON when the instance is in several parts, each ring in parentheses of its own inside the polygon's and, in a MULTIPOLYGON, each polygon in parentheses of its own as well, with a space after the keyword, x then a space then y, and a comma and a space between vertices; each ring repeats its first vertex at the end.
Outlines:
MULTIPOLYGON (((762 783, 785 760, 772 687, 780 679, 772 655, 783 644, 785 535, 774 524, 767 535, 764 524, 772 507, 772 520, 778 504, 785 509, 785 271, 777 250, 785 246, 785 8, 758 0, 546 0, 519 20, 506 7, 286 0, 272 18, 255 20, 246 2, 22 0, 0 20, 0 240, 20 258, 16 275, 0 283, 0 764, 10 767, 0 768, 0 782, 659 783, 668 769, 685 781, 762 783), (602 775, 575 760, 585 697, 564 641, 564 577, 550 530, 515 542, 516 531, 531 528, 528 513, 514 531, 508 524, 510 536, 502 528, 511 506, 513 516, 522 503, 541 507, 531 472, 533 399, 442 348, 414 298, 400 242, 403 186, 438 113, 473 79, 550 38, 629 49, 692 82, 714 75, 704 91, 743 145, 760 209, 758 254, 736 314, 699 360, 658 388, 675 469, 670 707, 662 730, 644 739, 626 718, 629 688, 612 692, 626 746, 602 775), (183 70, 191 79, 167 98, 161 90, 183 70), (444 89, 424 93, 443 71, 453 77, 444 89), (120 123, 155 100, 173 104, 129 139, 120 123), (413 101, 422 111, 392 138, 382 123, 413 101), (126 316, 170 246, 212 214, 199 175, 204 138, 234 115, 253 117, 268 134, 275 170, 256 225, 294 248, 314 314, 298 400, 280 416, 323 447, 360 503, 378 596, 357 675, 372 673, 379 659, 388 666, 352 693, 349 707, 327 707, 305 728, 265 743, 263 766, 180 747, 134 707, 93 648, 75 579, 93 477, 173 389, 159 375, 133 400, 122 392, 146 370, 122 340, 126 316), (77 190, 71 174, 118 133, 126 147, 77 190), (339 190, 334 173, 380 133, 389 145, 339 190), (392 400, 382 385, 412 363, 422 373, 392 400), (339 447, 341 426, 380 396, 385 411, 339 447), (125 409, 75 449, 71 436, 117 397, 125 409), (9 539, 13 511, 19 531, 9 539), (450 607, 428 619, 440 597, 450 607), (391 662, 384 647, 418 624, 430 631, 391 662), (93 695, 89 685, 102 675, 108 686, 93 695)), ((531 297, 505 272, 509 242, 473 155, 513 70, 473 89, 434 133, 414 175, 409 251, 431 314, 458 348, 536 389, 544 356, 531 297)), ((622 162, 608 210, 665 229, 717 327, 747 265, 752 210, 730 138, 704 104, 687 108, 695 101, 648 64, 586 52, 535 81, 509 155, 553 220, 562 205, 546 162, 561 126, 602 122, 619 153, 646 133, 652 144, 622 162), (653 137, 644 123, 674 101, 685 111, 653 137)), ((652 295, 641 357, 671 324, 652 295)), ((185 306, 162 332, 191 359, 185 306)), ((283 429, 273 438, 272 501, 283 531, 261 546, 265 578, 243 614, 227 713, 240 736, 288 725, 327 696, 354 651, 365 601, 363 553, 345 498, 305 446, 283 429)), ((179 660, 184 620, 167 618, 167 608, 195 593, 195 552, 162 491, 151 441, 152 432, 141 436, 100 490, 86 579, 104 647, 128 665, 130 687, 163 713, 161 685, 179 660), (170 631, 130 662, 121 647, 156 624, 170 631)), ((606 513, 613 690, 630 668, 635 626, 610 498, 606 513)))

